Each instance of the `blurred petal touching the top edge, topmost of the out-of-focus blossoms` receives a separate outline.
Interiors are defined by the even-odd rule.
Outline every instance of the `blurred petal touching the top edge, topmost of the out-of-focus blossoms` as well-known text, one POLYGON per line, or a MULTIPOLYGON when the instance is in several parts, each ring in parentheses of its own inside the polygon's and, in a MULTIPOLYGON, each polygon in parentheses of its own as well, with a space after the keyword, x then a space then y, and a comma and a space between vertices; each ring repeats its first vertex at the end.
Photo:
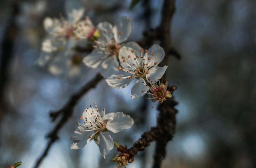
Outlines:
POLYGON ((77 0, 66 0, 65 10, 67 14, 67 20, 70 23, 80 20, 85 12, 83 5, 77 0))

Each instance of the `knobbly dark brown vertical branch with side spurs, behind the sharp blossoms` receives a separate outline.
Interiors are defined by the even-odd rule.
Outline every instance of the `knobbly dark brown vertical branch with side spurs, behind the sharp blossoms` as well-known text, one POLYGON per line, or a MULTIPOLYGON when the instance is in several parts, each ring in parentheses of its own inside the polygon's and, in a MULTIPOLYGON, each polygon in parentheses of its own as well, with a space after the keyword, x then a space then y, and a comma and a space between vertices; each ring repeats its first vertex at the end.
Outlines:
MULTIPOLYGON (((164 0, 162 20, 159 28, 144 32, 145 38, 138 42, 142 47, 145 47, 154 40, 160 40, 161 46, 166 53, 163 61, 159 64, 160 66, 168 64, 168 55, 174 55, 176 58, 180 59, 180 54, 171 46, 170 26, 174 11, 175 0, 164 0)), ((170 87, 171 92, 174 90, 176 90, 176 86, 170 87)), ((142 151, 146 146, 149 146, 150 142, 156 141, 153 168, 160 168, 162 159, 166 154, 166 145, 172 140, 173 134, 175 133, 177 110, 174 106, 176 104, 177 102, 173 98, 169 98, 163 104, 160 104, 158 107, 159 116, 157 126, 152 127, 150 131, 142 134, 141 138, 136 141, 130 149, 126 149, 126 146, 120 146, 117 151, 121 153, 116 155, 116 159, 118 159, 116 161, 120 163, 121 159, 123 163, 125 163, 126 160, 129 163, 132 163, 134 156, 139 151, 142 151)))

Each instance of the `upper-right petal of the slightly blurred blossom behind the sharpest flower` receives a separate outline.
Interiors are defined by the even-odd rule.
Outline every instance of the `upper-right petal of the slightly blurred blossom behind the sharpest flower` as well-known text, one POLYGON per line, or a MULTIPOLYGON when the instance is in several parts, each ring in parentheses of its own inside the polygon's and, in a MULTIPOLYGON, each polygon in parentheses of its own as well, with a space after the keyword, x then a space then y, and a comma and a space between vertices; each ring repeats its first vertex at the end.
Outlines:
POLYGON ((114 26, 114 38, 117 43, 126 41, 132 30, 132 19, 130 17, 122 17, 121 20, 114 26))

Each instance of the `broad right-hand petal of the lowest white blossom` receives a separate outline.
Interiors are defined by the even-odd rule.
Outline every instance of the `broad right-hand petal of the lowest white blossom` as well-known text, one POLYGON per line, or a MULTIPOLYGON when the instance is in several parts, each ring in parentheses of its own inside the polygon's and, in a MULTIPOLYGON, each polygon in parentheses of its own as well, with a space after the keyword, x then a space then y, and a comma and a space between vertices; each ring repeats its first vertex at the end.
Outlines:
POLYGON ((105 117, 108 120, 106 128, 108 131, 112 131, 113 133, 118 133, 125 129, 129 129, 133 126, 133 119, 126 114, 117 112, 117 113, 108 113, 105 117))

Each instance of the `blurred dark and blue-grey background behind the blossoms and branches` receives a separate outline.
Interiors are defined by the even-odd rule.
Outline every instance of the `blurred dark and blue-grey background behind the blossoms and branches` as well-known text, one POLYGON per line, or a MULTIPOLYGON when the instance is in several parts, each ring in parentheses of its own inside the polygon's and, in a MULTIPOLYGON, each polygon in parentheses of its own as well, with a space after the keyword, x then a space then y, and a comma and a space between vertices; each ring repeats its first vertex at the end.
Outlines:
MULTIPOLYGON (((131 10, 130 0, 81 1, 95 25, 130 16, 128 41, 139 41, 161 21, 163 0, 140 2, 131 10)), ((178 87, 174 97, 179 113, 163 168, 256 167, 255 7, 253 0, 176 1, 171 38, 182 58, 169 58, 167 76, 169 85, 178 87)), ((21 168, 33 167, 55 126, 49 112, 60 109, 98 72, 84 67, 81 82, 70 85, 65 76, 35 66, 45 36, 42 20, 60 13, 65 16, 62 0, 0 1, 0 167, 17 161, 23 162, 21 168)), ((132 146, 156 125, 158 112, 145 98, 132 100, 131 86, 118 90, 102 80, 84 95, 40 168, 117 167, 109 162, 115 149, 106 160, 93 142, 71 151, 69 135, 83 110, 97 102, 107 113, 120 111, 135 120, 131 129, 111 134, 120 144, 132 146)), ((140 152, 128 168, 151 167, 154 146, 140 152)))

